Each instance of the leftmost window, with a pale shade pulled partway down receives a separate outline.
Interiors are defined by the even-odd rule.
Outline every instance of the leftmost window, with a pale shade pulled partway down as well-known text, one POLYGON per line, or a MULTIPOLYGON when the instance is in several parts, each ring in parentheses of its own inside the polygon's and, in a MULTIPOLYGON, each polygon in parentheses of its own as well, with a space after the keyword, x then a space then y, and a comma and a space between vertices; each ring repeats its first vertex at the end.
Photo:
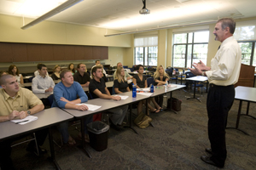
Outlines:
POLYGON ((135 65, 157 65, 158 37, 135 37, 135 65))

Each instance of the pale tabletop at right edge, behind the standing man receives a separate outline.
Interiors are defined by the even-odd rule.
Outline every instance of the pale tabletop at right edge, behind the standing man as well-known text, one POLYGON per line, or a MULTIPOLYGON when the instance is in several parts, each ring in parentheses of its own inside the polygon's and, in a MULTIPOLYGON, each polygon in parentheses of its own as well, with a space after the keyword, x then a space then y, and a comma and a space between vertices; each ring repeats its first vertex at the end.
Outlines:
POLYGON ((235 99, 256 102, 256 88, 237 86, 235 99))

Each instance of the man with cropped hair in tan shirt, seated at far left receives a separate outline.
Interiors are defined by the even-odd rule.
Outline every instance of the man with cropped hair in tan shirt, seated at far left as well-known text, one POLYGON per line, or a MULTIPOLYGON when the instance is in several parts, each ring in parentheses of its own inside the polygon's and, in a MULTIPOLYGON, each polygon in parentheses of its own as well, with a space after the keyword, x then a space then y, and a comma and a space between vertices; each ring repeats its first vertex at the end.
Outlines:
MULTIPOLYGON (((20 88, 16 78, 13 75, 3 75, 0 77, 0 123, 13 119, 24 119, 26 116, 33 115, 44 110, 44 105, 32 91, 26 88, 20 88)), ((22 125, 20 125, 22 126, 22 125)), ((3 129, 2 129, 3 130, 3 129)), ((46 139, 48 129, 38 130, 36 132, 38 145, 43 145, 46 139)), ((17 139, 20 139, 18 137, 17 139)), ((11 144, 16 139, 5 139, 0 142, 0 167, 2 170, 15 169, 11 155, 11 144)), ((32 140, 26 147, 27 151, 37 153, 35 140, 32 140)), ((46 152, 38 146, 40 154, 46 152)))

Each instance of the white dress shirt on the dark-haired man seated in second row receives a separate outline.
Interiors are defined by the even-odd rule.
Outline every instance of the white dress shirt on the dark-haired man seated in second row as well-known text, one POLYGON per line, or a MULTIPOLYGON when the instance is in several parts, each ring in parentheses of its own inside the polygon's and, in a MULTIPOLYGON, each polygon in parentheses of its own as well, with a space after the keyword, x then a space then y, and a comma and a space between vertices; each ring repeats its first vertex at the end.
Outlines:
POLYGON ((51 77, 41 77, 38 75, 32 79, 32 92, 33 93, 45 93, 48 88, 54 88, 55 82, 51 77))

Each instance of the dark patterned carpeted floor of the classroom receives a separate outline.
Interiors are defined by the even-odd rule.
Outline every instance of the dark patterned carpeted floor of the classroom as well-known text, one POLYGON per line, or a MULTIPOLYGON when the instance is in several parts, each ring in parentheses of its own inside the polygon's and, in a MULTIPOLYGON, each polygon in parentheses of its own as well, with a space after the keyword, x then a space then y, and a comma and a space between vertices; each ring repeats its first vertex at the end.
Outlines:
MULTIPOLYGON (((192 94, 192 92, 191 92, 192 94)), ((188 92, 179 90, 172 95, 182 99, 182 111, 174 114, 172 111, 162 111, 151 114, 154 127, 137 129, 139 134, 128 128, 117 132, 111 129, 108 137, 108 149, 98 152, 89 144, 87 148, 92 158, 84 154, 79 147, 55 145, 56 160, 62 169, 218 169, 201 161, 202 155, 207 155, 205 148, 209 147, 207 138, 207 94, 200 94, 202 102, 196 99, 186 99, 188 92)), ((165 104, 165 102, 164 102, 165 104)), ((228 127, 235 127, 239 101, 235 100, 231 108, 228 127)), ((251 104, 250 115, 256 116, 256 104, 251 104)), ((245 113, 247 103, 243 103, 245 113)), ((136 110, 133 110, 136 111, 136 110)), ((256 120, 241 116, 240 126, 250 135, 235 129, 226 130, 228 156, 224 169, 256 169, 256 120)), ((78 131, 70 127, 78 145, 78 131)), ((60 142, 60 134, 55 131, 54 138, 60 142)), ((26 152, 26 144, 13 148, 12 158, 17 169, 55 169, 48 155, 33 156, 26 152)), ((44 148, 49 150, 49 142, 44 148)))

